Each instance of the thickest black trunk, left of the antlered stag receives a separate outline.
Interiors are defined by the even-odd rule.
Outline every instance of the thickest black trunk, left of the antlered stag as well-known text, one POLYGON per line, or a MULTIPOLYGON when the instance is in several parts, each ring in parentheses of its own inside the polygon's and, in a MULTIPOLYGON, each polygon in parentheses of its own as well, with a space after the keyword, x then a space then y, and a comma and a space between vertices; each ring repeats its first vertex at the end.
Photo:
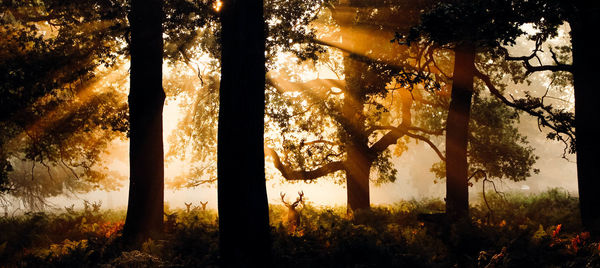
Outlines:
POLYGON ((268 267, 263 2, 225 1, 221 12, 217 161, 221 264, 268 267))

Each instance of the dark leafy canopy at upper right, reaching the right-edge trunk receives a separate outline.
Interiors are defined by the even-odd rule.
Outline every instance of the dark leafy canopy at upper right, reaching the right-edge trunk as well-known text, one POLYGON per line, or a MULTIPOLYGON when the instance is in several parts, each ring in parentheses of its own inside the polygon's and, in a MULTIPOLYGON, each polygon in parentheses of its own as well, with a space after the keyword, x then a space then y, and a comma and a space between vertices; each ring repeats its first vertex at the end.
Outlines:
POLYGON ((423 9, 419 24, 412 27, 409 33, 396 33, 395 40, 401 44, 432 44, 436 49, 452 49, 461 43, 473 45, 477 53, 486 54, 483 57, 485 59, 478 56, 476 65, 480 74, 477 76, 489 79, 489 85, 486 86, 497 88, 490 88, 490 91, 497 90, 492 93, 503 98, 505 104, 536 117, 540 127, 548 127, 547 138, 563 142, 566 155, 575 153, 574 114, 570 109, 545 102, 548 91, 541 97, 526 91, 524 97, 514 99, 511 96, 512 100, 503 97, 502 93, 507 74, 515 83, 529 83, 527 78, 530 74, 547 67, 540 61, 534 65, 540 65, 541 70, 534 70, 529 62, 533 58, 540 58, 545 47, 551 54, 548 57, 554 61, 550 65, 561 67, 549 76, 550 85, 557 84, 552 86, 553 90, 560 92, 565 85, 571 84, 572 78, 568 72, 571 64, 570 46, 557 47, 544 42, 556 37, 561 25, 572 21, 576 5, 568 1, 537 0, 438 2, 423 9), (523 26, 526 24, 531 25, 535 32, 525 32, 523 26), (508 47, 515 45, 519 37, 535 42, 535 47, 530 48, 531 55, 509 55, 508 47))

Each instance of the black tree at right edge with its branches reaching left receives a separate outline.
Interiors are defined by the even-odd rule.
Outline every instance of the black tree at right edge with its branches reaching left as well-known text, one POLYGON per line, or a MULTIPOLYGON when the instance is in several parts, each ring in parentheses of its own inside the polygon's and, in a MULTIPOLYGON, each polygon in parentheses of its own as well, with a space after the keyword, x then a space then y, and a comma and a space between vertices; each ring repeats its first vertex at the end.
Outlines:
MULTIPOLYGON (((553 76, 566 76, 568 81, 572 75, 575 92, 574 115, 551 110, 551 106, 544 105, 543 98, 529 98, 525 104, 534 106, 532 104, 537 103, 537 107, 541 106, 543 112, 549 114, 542 122, 542 125, 552 129, 548 138, 565 142, 566 152, 577 153, 577 182, 582 223, 592 235, 599 236, 600 212, 595 206, 600 202, 600 184, 596 179, 599 170, 594 161, 594 152, 597 151, 598 145, 595 142, 594 126, 590 123, 597 115, 594 106, 597 94, 593 66, 598 61, 598 55, 594 51, 594 41, 589 33, 593 32, 594 25, 598 24, 600 7, 598 3, 589 1, 524 1, 523 5, 537 8, 537 12, 529 18, 540 30, 532 37, 536 46, 530 55, 512 56, 504 51, 504 56, 507 60, 520 62, 525 70, 525 77, 537 72, 551 72, 553 76), (564 22, 571 28, 570 46, 548 46, 551 58, 549 64, 530 62, 543 54, 544 41, 555 36, 564 22)), ((490 85, 490 88, 493 88, 493 85, 490 85)))

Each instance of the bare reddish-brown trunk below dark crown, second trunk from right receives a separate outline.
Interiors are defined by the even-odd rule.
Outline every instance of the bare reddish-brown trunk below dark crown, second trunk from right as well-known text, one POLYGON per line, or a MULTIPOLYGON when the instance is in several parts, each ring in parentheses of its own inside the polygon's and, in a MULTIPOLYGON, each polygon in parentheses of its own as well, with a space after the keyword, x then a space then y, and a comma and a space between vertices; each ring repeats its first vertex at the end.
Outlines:
POLYGON ((467 145, 474 61, 472 45, 457 45, 446 122, 446 213, 453 220, 464 219, 469 215, 467 145))

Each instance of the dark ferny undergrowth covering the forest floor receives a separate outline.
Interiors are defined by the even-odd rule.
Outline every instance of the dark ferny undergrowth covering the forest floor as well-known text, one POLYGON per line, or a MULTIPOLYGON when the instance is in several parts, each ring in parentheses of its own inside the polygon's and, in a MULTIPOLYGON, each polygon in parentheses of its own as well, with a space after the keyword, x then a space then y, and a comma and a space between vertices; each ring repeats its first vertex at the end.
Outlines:
MULTIPOLYGON (((293 231, 284 221, 286 208, 272 206, 273 266, 600 267, 598 241, 581 232, 577 198, 554 189, 532 196, 489 193, 486 199, 487 205, 471 208, 471 223, 458 224, 431 214, 443 210, 440 200, 375 207, 352 218, 345 208, 307 205, 293 231)), ((217 266, 216 213, 167 214, 165 237, 137 250, 119 246, 123 212, 3 217, 0 266, 217 266)))

